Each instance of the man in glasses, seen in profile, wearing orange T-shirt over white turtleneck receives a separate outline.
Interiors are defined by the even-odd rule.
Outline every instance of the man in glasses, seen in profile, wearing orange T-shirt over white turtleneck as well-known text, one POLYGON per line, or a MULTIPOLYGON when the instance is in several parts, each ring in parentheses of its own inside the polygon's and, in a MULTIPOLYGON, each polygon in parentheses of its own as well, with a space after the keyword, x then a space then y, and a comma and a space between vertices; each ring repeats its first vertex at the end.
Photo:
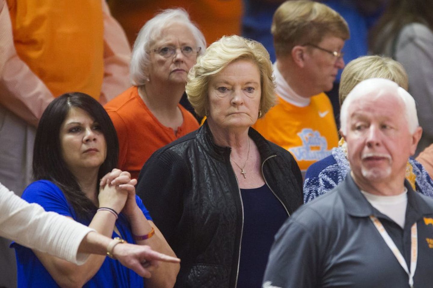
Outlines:
POLYGON ((309 0, 286 1, 271 26, 278 103, 253 126, 292 153, 303 175, 338 144, 333 108, 324 92, 333 87, 349 28, 336 11, 309 0))

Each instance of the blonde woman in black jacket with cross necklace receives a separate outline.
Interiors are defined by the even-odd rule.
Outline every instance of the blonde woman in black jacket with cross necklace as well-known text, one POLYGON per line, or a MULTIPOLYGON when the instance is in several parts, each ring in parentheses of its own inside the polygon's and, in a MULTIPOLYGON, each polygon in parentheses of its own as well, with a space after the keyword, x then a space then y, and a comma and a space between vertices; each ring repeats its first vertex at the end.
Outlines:
POLYGON ((273 80, 259 42, 211 44, 186 86, 207 120, 140 172, 137 194, 182 259, 176 287, 261 287, 274 235, 302 204, 293 156, 251 128, 275 102, 273 80))

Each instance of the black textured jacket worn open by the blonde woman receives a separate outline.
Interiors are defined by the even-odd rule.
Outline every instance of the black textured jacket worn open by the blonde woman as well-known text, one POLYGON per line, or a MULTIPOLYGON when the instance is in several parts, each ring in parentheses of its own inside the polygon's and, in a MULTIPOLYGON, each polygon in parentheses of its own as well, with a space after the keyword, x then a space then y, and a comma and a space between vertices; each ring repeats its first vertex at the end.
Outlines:
MULTIPOLYGON (((292 155, 250 128, 268 186, 291 214, 303 203, 292 155)), ((230 148, 213 143, 207 123, 156 151, 139 174, 137 194, 181 258, 175 287, 236 287, 242 203, 230 148)))

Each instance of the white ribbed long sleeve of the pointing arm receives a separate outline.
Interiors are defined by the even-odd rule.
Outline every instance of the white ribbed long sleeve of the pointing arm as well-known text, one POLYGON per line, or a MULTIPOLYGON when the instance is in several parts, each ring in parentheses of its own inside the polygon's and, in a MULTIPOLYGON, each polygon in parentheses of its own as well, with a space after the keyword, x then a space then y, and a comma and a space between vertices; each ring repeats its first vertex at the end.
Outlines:
POLYGON ((29 204, 0 183, 0 236, 81 265, 88 254, 78 253, 93 229, 55 212, 29 204))

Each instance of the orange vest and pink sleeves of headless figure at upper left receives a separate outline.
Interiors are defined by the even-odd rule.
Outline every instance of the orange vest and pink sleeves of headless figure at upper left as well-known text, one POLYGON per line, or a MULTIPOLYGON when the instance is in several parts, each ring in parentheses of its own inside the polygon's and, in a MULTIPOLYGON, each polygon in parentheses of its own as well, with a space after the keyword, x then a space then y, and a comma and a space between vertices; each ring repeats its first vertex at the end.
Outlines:
POLYGON ((130 86, 130 47, 105 0, 0 0, 0 105, 33 126, 80 91, 100 103, 130 86))

